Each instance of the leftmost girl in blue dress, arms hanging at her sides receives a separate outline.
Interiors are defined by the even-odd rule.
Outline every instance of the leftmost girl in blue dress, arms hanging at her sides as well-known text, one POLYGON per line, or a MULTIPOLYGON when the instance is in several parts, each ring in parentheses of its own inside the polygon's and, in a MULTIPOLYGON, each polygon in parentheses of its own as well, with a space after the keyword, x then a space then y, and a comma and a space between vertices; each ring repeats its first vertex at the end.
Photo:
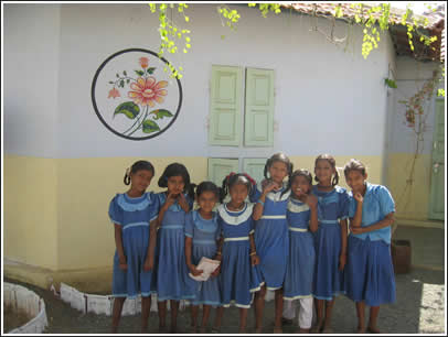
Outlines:
POLYGON ((115 227, 116 251, 113 274, 113 324, 115 334, 125 300, 141 294, 141 331, 148 329, 151 307, 151 281, 154 265, 157 214, 159 200, 146 193, 154 167, 147 161, 134 163, 126 171, 125 184, 130 188, 117 194, 109 205, 109 217, 115 227))

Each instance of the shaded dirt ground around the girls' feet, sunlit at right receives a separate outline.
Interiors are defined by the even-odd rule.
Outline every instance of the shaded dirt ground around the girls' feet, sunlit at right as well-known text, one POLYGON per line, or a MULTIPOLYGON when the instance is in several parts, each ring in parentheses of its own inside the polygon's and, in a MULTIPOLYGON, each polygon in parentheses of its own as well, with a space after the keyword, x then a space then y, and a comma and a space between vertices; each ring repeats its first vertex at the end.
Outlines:
MULTIPOLYGON (((47 334, 108 334, 111 318, 105 315, 82 314, 68 304, 55 297, 50 291, 4 279, 6 282, 21 284, 34 291, 45 301, 49 327, 47 334)), ((413 269, 408 274, 397 274, 396 303, 383 305, 380 309, 378 328, 387 334, 446 334, 445 323, 445 272, 424 269, 413 269)), ((82 290, 81 290, 82 291, 82 290)), ((273 333, 274 301, 265 306, 264 334, 273 333)), ((369 313, 366 312, 366 317, 369 313)), ((169 316, 167 317, 169 324, 169 316)), ((214 319, 211 314, 210 325, 214 319)), ((238 309, 231 307, 224 312, 222 334, 237 334, 238 309)), ((254 311, 249 309, 247 333, 254 330, 254 311)), ((188 334, 190 326, 190 311, 180 312, 178 327, 180 334, 188 334)), ((352 301, 345 296, 335 300, 333 308, 332 328, 334 334, 354 334, 356 330, 356 312, 352 301)), ((294 334, 297 322, 285 326, 285 334, 294 334)), ((121 317, 119 333, 138 334, 140 316, 121 317)), ((149 318, 149 333, 158 333, 157 313, 149 318)), ((210 330, 209 330, 210 333, 210 330)))

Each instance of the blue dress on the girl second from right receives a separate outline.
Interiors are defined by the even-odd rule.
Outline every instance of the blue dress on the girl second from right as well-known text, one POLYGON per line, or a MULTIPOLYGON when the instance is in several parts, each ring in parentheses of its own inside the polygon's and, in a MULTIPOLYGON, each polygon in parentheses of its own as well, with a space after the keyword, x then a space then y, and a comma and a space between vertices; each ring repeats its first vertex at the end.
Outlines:
POLYGON ((334 186, 330 192, 312 187, 318 197, 319 227, 314 233, 316 267, 312 294, 318 300, 331 301, 345 293, 344 271, 339 271, 341 254, 341 226, 339 220, 349 217, 349 194, 334 186))

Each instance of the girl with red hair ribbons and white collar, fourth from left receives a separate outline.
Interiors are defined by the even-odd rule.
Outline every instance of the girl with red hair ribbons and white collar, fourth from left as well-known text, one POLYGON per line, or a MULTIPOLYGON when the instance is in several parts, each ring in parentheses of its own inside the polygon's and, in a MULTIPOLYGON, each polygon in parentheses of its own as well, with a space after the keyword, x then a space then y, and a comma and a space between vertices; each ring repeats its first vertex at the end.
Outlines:
MULTIPOLYGON (((239 333, 245 333, 247 309, 253 293, 263 285, 258 270, 259 258, 255 249, 253 204, 245 202, 253 180, 247 174, 232 174, 223 182, 221 202, 231 195, 231 202, 217 208, 218 224, 222 228, 223 247, 217 251, 221 260, 221 296, 223 307, 231 304, 239 307, 239 333)), ((222 315, 222 311, 221 311, 222 315)), ((220 328, 220 323, 216 329, 220 328)))

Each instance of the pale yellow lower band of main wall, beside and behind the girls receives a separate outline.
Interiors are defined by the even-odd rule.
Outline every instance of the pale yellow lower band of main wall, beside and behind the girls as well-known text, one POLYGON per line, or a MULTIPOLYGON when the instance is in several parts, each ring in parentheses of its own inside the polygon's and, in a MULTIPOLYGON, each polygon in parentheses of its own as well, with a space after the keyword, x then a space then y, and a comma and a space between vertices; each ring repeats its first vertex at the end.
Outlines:
MULTIPOLYGON (((343 167, 351 157, 335 156, 337 165, 343 167)), ((100 272, 111 268, 115 252, 108 206, 116 193, 129 188, 122 183, 125 171, 140 159, 149 160, 156 167, 148 191, 162 191, 158 180, 163 168, 173 162, 188 167, 192 182, 207 180, 207 157, 202 156, 34 159, 6 155, 6 258, 47 269, 25 268, 23 274, 42 286, 49 285, 47 275, 54 281, 67 282, 98 279, 109 286, 111 274, 100 272), (30 178, 19 176, 24 174, 30 178), (21 197, 23 191, 26 198, 21 197), (105 276, 98 276, 103 274, 105 276)), ((311 172, 314 159, 291 156, 295 168, 311 172)), ((381 156, 356 159, 367 165, 369 181, 381 184, 381 156)), ((339 172, 340 185, 346 187, 343 171, 339 172)), ((8 267, 8 270, 21 275, 17 268, 8 267)))

